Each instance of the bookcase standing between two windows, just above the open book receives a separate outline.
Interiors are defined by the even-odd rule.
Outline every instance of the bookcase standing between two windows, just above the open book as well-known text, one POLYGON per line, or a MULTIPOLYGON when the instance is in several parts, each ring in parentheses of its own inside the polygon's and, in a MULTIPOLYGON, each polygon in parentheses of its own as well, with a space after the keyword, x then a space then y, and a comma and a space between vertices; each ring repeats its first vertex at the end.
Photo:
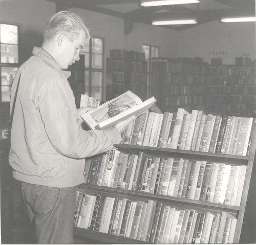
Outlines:
POLYGON ((141 53, 117 50, 106 59, 106 99, 113 99, 127 90, 146 99, 147 61, 141 53))

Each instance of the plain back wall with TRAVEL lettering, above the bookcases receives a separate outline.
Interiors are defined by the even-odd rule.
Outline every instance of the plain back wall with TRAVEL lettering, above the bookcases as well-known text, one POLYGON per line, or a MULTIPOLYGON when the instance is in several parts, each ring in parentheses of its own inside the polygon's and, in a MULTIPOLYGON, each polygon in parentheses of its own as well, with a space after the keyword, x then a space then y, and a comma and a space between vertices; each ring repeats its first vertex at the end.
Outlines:
POLYGON ((223 64, 234 64, 235 57, 255 59, 255 23, 209 23, 178 34, 179 57, 222 58, 223 64))

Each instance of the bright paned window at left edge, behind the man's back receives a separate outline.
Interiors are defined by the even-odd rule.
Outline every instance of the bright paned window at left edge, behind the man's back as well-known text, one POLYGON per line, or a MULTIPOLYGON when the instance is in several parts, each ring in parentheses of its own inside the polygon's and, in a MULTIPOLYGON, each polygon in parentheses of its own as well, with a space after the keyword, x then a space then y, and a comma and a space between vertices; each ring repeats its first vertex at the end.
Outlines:
POLYGON ((10 102, 11 83, 18 70, 18 26, 0 23, 1 102, 10 102))

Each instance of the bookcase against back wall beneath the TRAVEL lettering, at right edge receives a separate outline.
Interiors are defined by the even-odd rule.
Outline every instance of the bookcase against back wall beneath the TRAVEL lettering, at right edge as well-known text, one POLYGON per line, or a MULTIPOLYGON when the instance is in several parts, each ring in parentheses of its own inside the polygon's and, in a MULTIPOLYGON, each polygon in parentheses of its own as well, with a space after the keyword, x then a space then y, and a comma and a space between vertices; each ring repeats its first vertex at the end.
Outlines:
POLYGON ((255 117, 256 68, 252 65, 209 65, 207 113, 255 117))

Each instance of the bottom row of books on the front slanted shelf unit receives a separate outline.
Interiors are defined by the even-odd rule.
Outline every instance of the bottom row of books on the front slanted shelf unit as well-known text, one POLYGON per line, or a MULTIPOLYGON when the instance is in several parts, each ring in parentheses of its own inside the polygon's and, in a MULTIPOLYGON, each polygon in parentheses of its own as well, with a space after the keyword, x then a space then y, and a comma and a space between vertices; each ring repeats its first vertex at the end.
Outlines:
POLYGON ((77 191, 74 226, 152 243, 232 243, 237 219, 227 212, 178 209, 77 191))

